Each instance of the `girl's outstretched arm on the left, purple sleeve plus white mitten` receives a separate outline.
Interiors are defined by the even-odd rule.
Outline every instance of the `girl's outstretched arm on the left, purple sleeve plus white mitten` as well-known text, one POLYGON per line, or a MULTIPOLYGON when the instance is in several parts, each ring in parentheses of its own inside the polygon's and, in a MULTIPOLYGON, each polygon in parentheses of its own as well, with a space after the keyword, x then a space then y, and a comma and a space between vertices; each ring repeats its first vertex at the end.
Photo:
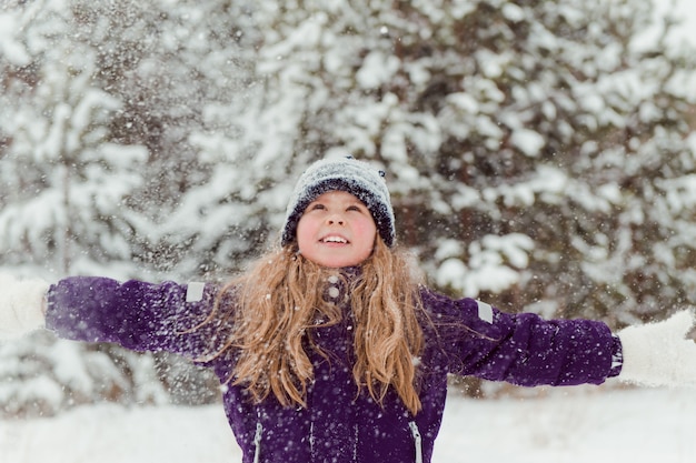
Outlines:
POLYGON ((222 338, 219 323, 202 323, 216 294, 202 283, 71 276, 49 285, 0 275, 0 338, 47 328, 64 339, 199 359, 222 338))

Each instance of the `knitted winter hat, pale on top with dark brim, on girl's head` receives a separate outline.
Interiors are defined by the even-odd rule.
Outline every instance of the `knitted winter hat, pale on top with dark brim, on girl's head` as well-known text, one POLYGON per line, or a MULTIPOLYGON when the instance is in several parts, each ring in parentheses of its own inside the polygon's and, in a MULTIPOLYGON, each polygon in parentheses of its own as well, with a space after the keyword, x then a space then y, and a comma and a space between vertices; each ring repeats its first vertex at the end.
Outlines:
POLYGON ((300 175, 286 213, 281 244, 296 240, 297 222, 310 202, 328 191, 346 191, 365 203, 372 214, 379 235, 388 246, 394 245, 394 211, 384 172, 352 158, 320 160, 300 175))

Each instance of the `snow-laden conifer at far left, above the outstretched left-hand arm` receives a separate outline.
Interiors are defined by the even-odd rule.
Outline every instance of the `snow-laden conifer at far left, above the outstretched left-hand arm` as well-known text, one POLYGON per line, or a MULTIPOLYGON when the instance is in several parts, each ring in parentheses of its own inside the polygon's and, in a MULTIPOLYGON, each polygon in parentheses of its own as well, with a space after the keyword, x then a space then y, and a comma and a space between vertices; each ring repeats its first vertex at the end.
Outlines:
POLYGON ((31 84, 12 81, 3 94, 2 263, 58 275, 118 266, 131 256, 123 201, 142 182, 147 150, 110 140, 121 103, 96 84, 95 50, 70 40, 69 21, 29 8, 16 20, 34 69, 31 84))

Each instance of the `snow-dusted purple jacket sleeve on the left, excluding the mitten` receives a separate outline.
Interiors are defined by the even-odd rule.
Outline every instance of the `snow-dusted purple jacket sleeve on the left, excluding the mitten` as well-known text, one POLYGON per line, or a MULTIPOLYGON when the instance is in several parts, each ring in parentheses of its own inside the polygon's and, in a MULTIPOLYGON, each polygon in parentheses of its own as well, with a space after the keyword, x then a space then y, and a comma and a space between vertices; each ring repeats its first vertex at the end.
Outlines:
POLYGON ((210 353, 219 335, 217 323, 201 325, 216 293, 215 285, 202 283, 73 276, 49 289, 46 326, 64 339, 197 359, 210 353))

